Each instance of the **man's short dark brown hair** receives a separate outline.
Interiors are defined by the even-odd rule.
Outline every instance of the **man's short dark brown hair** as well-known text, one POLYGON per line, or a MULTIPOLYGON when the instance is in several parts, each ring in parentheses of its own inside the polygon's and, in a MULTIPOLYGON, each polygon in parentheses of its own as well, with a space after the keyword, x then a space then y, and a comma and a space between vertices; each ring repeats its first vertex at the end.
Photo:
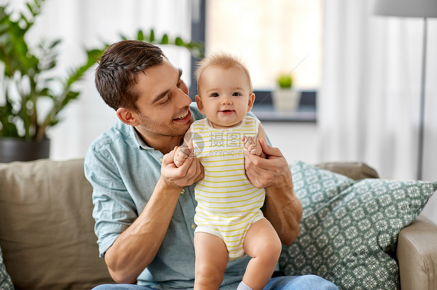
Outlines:
POLYGON ((120 41, 109 46, 96 69, 97 91, 114 110, 120 107, 138 112, 138 94, 133 89, 137 76, 145 69, 162 64, 168 58, 162 50, 142 41, 120 41))

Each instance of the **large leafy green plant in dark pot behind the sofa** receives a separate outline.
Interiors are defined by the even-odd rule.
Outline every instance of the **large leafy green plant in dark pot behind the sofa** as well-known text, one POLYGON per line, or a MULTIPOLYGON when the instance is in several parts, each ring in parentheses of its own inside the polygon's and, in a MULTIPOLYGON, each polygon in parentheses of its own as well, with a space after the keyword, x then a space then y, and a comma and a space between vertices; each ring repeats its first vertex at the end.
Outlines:
MULTIPOLYGON (((106 49, 86 50, 87 60, 71 69, 64 77, 54 77, 57 47, 60 40, 41 40, 30 48, 25 35, 41 13, 45 0, 32 0, 25 13, 13 19, 7 6, 0 6, 0 162, 29 161, 49 157, 46 130, 59 122, 59 112, 79 96, 73 84, 79 81, 97 57, 106 49), (44 113, 41 101, 50 101, 44 113)), ((120 35, 121 39, 127 39, 120 35)), ((189 49, 193 55, 202 54, 198 43, 186 43, 180 38, 170 41, 167 34, 155 38, 153 29, 144 34, 139 30, 137 39, 154 44, 169 44, 189 49)))

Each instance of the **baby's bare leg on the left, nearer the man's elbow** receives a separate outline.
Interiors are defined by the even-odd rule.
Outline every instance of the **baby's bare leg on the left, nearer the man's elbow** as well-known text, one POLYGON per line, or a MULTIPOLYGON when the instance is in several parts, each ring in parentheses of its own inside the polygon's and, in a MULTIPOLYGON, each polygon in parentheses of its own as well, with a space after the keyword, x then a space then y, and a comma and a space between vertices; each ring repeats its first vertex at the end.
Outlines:
POLYGON ((194 289, 219 289, 228 265, 225 242, 214 235, 197 232, 194 235, 196 251, 194 289))

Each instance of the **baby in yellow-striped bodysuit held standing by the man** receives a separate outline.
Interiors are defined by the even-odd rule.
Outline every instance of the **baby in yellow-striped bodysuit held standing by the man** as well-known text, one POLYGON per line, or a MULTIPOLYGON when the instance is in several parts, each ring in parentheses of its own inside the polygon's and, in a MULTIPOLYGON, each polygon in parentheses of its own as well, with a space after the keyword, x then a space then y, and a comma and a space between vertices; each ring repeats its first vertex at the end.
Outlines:
POLYGON ((281 243, 261 211, 265 190, 246 177, 245 154, 265 158, 260 121, 246 116, 255 94, 247 68, 228 54, 200 61, 197 106, 205 119, 194 122, 174 156, 181 166, 195 154, 205 175, 195 187, 195 289, 218 289, 228 260, 249 261, 238 289, 263 289, 279 258, 281 243), (246 152, 246 153, 245 153, 246 152))

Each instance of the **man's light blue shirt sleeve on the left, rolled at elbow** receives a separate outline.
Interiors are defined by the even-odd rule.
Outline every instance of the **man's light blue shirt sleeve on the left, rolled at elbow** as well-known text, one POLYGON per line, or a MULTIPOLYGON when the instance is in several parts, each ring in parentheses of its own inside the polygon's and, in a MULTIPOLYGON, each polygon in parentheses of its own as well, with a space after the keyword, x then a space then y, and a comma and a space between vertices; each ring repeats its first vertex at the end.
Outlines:
POLYGON ((98 238, 99 255, 138 217, 136 207, 114 159, 108 151, 92 144, 84 162, 85 177, 92 186, 92 217, 98 238))

